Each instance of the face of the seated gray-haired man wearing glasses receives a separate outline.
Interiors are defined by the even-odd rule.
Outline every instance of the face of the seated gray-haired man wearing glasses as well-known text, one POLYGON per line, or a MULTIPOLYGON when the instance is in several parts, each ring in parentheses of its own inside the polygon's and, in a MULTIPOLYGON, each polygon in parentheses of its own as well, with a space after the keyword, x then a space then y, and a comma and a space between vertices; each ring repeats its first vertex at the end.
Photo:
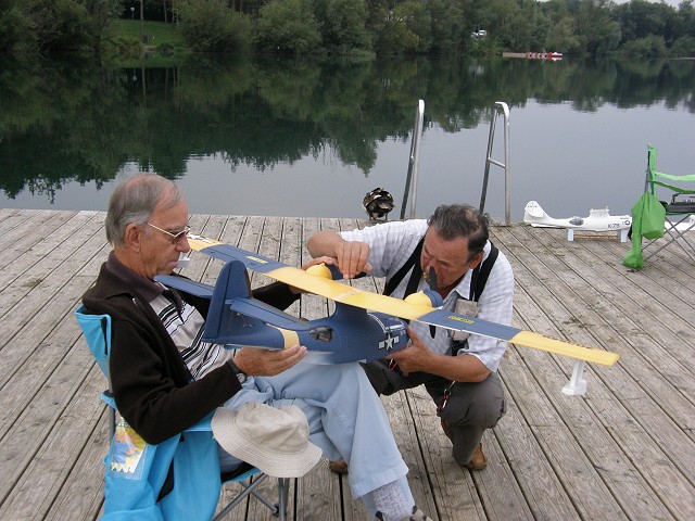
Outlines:
POLYGON ((167 208, 157 207, 150 218, 149 225, 142 228, 140 262, 143 274, 149 279, 155 275, 169 275, 176 268, 179 255, 190 251, 186 234, 174 239, 186 229, 188 224, 188 205, 181 202, 167 208), (168 232, 168 233, 165 233, 168 232))

